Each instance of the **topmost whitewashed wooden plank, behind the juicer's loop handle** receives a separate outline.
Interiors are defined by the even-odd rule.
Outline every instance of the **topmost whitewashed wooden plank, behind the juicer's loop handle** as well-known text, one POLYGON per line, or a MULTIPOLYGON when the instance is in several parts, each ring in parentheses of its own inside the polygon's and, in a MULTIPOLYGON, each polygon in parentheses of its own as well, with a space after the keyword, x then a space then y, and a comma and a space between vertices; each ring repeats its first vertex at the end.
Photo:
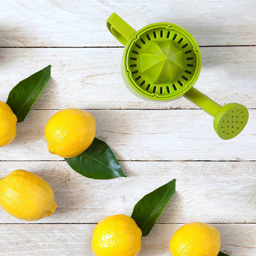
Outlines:
POLYGON ((255 1, 188 2, 156 4, 138 1, 1 1, 0 46, 83 47, 120 46, 106 20, 117 12, 134 29, 155 22, 171 22, 186 28, 199 45, 255 44, 255 1), (129 10, 129 12, 127 12, 129 10))

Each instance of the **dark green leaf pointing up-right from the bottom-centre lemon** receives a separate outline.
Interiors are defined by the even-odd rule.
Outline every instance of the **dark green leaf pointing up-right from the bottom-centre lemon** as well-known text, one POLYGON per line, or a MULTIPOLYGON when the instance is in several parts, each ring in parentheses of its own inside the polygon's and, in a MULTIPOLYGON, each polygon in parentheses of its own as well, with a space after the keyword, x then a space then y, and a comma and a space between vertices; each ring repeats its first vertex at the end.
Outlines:
POLYGON ((135 204, 132 211, 132 219, 142 230, 142 236, 147 236, 162 215, 166 205, 175 192, 175 179, 169 181, 164 186, 157 188, 151 193, 143 196, 135 204))

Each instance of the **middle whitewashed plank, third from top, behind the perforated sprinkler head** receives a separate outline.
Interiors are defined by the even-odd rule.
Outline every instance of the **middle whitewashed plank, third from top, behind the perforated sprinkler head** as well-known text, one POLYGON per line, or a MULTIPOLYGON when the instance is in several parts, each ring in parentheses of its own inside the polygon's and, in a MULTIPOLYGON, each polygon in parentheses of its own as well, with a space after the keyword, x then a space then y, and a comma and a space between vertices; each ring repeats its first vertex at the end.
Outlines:
MULTIPOLYGON (((48 152, 44 128, 57 110, 31 110, 17 124, 14 141, 1 148, 1 160, 62 160, 48 152)), ((96 138, 104 140, 118 160, 256 160, 256 110, 236 138, 222 140, 212 116, 203 110, 90 110, 96 138)))

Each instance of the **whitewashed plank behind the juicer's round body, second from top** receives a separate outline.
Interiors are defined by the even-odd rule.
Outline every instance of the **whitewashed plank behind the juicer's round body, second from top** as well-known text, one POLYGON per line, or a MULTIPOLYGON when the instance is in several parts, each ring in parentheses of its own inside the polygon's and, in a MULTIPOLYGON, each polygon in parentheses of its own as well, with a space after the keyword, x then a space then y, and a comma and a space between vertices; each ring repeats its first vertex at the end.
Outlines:
MULTIPOLYGON (((220 105, 228 102, 255 108, 256 47, 206 47, 195 87, 220 105)), ((36 109, 169 109, 198 108, 184 97, 150 102, 134 96, 120 73, 123 48, 4 49, 0 99, 19 81, 52 64, 52 78, 36 109)))

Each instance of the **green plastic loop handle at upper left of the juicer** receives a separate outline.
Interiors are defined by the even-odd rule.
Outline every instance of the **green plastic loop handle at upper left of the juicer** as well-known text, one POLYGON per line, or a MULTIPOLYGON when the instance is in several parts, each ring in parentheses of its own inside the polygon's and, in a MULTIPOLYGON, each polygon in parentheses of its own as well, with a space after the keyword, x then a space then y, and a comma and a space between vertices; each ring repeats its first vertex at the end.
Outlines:
POLYGON ((129 24, 113 12, 107 20, 107 27, 110 33, 123 44, 127 44, 130 37, 136 32, 129 24))

